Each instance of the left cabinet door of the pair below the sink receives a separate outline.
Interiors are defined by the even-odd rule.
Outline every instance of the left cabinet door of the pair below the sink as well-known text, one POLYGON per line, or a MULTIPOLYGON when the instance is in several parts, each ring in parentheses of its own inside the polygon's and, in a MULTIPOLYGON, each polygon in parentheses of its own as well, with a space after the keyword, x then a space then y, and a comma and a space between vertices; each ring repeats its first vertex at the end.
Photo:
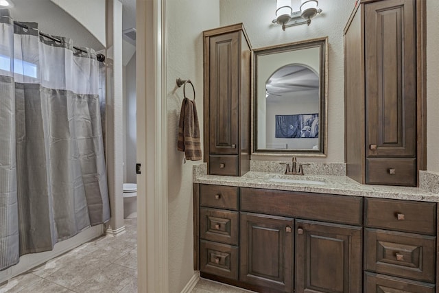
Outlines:
POLYGON ((292 292, 293 228, 291 218, 241 213, 239 280, 292 292))

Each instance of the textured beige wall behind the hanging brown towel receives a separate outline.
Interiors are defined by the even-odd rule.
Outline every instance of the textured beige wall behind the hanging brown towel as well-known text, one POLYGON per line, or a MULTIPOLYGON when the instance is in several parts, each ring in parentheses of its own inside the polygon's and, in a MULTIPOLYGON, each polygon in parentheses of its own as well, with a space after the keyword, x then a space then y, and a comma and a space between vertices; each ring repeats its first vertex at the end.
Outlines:
MULTIPOLYGON (((190 79, 193 82, 197 93, 195 101, 198 117, 202 126, 202 31, 219 26, 219 2, 169 0, 167 5, 169 292, 181 292, 194 274, 193 163, 183 163, 184 154, 177 151, 178 119, 183 89, 175 89, 176 78, 190 79)), ((191 86, 186 88, 186 92, 190 98, 193 97, 191 86)))

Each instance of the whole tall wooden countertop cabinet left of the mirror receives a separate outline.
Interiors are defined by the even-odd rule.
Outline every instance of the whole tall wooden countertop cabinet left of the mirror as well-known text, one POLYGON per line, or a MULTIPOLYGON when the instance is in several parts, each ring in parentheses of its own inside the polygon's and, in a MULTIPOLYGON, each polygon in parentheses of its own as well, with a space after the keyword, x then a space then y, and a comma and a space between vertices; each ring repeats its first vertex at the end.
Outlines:
POLYGON ((203 32, 204 161, 208 174, 250 169, 250 43, 244 26, 203 32))

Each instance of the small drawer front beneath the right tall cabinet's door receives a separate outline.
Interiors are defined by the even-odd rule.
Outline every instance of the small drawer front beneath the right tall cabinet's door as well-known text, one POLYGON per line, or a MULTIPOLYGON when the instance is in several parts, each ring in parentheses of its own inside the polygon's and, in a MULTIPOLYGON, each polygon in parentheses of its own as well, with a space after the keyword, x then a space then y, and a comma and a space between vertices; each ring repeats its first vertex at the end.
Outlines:
POLYGON ((366 159, 366 183, 416 186, 416 159, 366 159))

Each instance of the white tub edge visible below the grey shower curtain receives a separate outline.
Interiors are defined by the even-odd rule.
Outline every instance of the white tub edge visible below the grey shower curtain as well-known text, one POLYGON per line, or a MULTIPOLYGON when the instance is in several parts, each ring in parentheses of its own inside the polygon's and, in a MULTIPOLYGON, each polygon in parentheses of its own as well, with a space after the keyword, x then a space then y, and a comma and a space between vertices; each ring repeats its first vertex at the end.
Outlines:
POLYGON ((41 263, 45 263, 54 257, 58 257, 58 255, 62 255, 63 253, 67 253, 67 251, 72 250, 86 242, 89 242, 91 239, 95 239, 104 234, 104 225, 100 224, 97 226, 93 226, 87 228, 82 231, 78 235, 75 235, 69 239, 66 239, 62 242, 58 242, 55 244, 54 249, 50 251, 45 251, 44 253, 29 253, 29 255, 23 255, 20 257, 20 262, 15 266, 12 266, 6 270, 2 270, 0 272, 0 283, 7 281, 23 272, 27 272, 31 268, 35 268, 39 266, 41 263))

